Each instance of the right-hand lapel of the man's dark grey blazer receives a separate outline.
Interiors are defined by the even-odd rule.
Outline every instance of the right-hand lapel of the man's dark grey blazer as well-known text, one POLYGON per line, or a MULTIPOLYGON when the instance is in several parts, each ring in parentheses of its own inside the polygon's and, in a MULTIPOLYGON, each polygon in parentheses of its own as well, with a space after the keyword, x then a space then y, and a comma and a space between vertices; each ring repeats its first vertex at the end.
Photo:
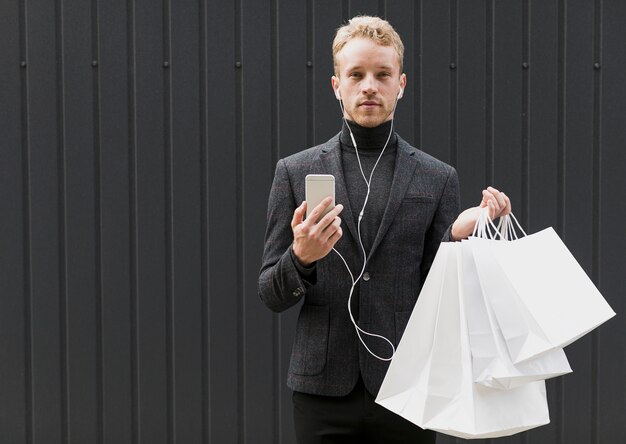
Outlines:
POLYGON ((415 168, 417 167, 417 158, 415 157, 415 151, 410 148, 410 145, 398 137, 398 150, 396 153, 396 166, 393 173, 393 179, 391 182, 391 190, 389 192, 389 200, 387 201, 387 207, 383 213, 383 219, 376 233, 376 238, 372 244, 367 260, 369 261, 373 254, 376 252, 376 248, 380 245, 380 242, 385 237, 389 226, 393 222, 396 216, 398 208, 404 199, 406 190, 413 178, 415 168))

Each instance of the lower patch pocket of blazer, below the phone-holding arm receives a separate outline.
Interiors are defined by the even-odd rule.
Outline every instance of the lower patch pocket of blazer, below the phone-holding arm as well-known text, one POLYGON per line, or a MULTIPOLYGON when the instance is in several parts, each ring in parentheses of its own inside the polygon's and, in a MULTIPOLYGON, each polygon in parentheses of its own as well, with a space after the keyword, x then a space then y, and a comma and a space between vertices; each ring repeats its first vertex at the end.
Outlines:
POLYGON ((328 306, 303 305, 296 326, 290 370, 303 376, 320 374, 326 367, 330 314, 328 306))

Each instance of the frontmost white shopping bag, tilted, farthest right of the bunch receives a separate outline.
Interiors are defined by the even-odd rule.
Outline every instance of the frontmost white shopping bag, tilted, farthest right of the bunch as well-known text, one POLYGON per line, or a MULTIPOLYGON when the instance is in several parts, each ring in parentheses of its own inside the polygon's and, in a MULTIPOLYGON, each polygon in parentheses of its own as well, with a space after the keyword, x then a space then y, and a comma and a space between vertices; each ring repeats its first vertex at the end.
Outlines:
POLYGON ((467 242, 516 364, 563 348, 615 315, 552 228, 508 242, 467 242))

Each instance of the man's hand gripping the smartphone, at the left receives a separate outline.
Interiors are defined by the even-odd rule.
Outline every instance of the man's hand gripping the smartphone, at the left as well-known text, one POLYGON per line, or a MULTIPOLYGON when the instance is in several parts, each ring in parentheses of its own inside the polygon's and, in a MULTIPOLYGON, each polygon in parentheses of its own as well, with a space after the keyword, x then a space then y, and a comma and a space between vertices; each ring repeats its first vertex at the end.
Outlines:
POLYGON ((343 234, 339 213, 343 205, 339 204, 321 217, 324 210, 332 203, 332 196, 326 197, 304 219, 307 203, 296 208, 291 219, 293 231, 293 252, 298 261, 306 266, 325 257, 333 249, 343 234))

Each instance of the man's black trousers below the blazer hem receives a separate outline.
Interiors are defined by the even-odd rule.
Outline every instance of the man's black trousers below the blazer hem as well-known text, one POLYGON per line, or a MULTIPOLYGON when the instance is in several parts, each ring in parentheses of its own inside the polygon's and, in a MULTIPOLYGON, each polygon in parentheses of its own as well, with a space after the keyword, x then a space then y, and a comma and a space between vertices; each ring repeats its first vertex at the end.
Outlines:
POLYGON ((293 393, 298 444, 435 444, 423 430, 374 402, 362 379, 346 396, 293 393))

